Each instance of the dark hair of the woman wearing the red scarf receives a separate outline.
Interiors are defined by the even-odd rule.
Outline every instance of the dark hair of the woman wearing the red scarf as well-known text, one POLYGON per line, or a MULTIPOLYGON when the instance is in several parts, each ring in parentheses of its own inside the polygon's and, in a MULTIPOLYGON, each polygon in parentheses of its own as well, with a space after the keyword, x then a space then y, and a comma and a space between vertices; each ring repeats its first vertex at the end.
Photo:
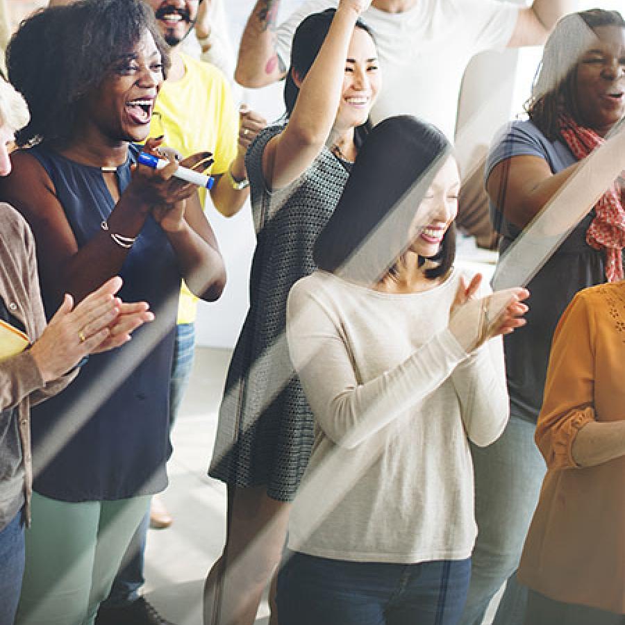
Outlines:
POLYGON ((562 113, 583 124, 575 98, 578 60, 592 44, 594 29, 601 26, 625 28, 625 20, 618 11, 599 8, 571 13, 560 19, 544 46, 525 108, 535 126, 551 140, 560 137, 562 113))

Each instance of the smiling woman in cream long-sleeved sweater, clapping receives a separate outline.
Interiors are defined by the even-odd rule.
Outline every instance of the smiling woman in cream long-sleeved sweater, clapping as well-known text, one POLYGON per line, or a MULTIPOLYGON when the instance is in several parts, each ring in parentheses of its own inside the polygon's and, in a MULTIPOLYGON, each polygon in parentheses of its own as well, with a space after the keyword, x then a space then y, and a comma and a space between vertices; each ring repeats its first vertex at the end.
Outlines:
POLYGON ((462 612, 469 440, 492 443, 508 420, 490 339, 523 324, 527 292, 478 299, 481 276, 453 267, 450 152, 415 117, 378 124, 317 239, 319 269, 290 292, 315 445, 278 576, 281 625, 453 625, 462 612))

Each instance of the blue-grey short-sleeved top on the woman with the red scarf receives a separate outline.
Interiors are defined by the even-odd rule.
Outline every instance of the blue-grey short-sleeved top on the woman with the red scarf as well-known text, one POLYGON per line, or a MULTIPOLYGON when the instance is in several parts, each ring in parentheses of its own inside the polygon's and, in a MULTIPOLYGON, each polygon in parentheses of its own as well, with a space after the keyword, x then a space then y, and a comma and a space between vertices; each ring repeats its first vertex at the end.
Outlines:
MULTIPOLYGON (((576 163, 565 142, 549 140, 532 122, 512 122, 503 128, 491 148, 486 178, 495 165, 520 155, 544 158, 553 174, 576 163)), ((503 235, 499 247, 503 254, 522 231, 496 206, 491 204, 490 210, 495 229, 503 235)), ((603 252, 586 242, 586 231, 593 218, 591 210, 531 279, 527 285, 527 324, 503 337, 512 416, 537 420, 558 320, 576 292, 606 281, 603 252)))

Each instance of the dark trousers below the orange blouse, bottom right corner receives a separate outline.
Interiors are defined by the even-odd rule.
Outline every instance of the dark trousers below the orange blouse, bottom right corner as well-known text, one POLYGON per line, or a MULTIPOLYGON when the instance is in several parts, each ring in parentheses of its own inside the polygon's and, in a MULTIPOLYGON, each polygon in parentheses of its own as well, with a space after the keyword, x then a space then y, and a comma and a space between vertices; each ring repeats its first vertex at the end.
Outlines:
POLYGON ((562 603, 529 590, 525 625, 625 625, 625 616, 589 606, 562 603))

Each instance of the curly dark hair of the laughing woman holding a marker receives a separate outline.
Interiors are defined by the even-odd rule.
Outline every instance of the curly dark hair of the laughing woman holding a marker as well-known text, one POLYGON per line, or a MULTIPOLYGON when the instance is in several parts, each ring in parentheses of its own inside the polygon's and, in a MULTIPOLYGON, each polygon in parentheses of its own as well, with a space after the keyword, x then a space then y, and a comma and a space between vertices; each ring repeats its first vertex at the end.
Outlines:
POLYGON ((31 110, 17 133, 20 146, 72 136, 85 96, 149 31, 169 68, 167 44, 142 0, 78 0, 35 12, 7 49, 8 76, 31 110))

